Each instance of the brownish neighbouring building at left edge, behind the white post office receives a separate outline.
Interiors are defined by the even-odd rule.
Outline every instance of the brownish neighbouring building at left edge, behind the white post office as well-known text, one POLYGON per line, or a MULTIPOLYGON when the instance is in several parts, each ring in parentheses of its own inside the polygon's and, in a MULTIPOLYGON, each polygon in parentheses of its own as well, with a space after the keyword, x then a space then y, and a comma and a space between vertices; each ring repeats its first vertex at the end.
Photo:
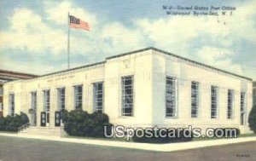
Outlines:
POLYGON ((36 78, 36 77, 38 76, 21 73, 21 72, 11 72, 6 70, 0 70, 0 117, 3 116, 3 83, 17 80, 17 79, 29 79, 29 78, 36 78))

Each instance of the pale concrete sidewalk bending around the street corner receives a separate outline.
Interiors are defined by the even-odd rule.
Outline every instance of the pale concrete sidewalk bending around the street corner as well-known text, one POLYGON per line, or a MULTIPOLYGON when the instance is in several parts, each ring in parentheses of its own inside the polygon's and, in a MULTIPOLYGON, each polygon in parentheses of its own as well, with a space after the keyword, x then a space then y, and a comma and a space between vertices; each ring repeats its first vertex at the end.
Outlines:
POLYGON ((61 141, 70 143, 79 143, 87 145, 96 146, 107 146, 107 147, 123 147, 132 148, 148 151, 157 152, 173 152, 194 149, 199 147, 212 147, 212 146, 222 146, 228 144, 236 144, 247 141, 256 141, 256 136, 253 137, 241 137, 234 139, 219 139, 211 141, 190 141, 190 142, 178 142, 178 143, 167 143, 167 144, 151 144, 151 143, 137 143, 137 142, 125 142, 125 141, 102 141, 96 139, 78 139, 78 138, 65 138, 65 137, 55 137, 55 136, 40 136, 40 135, 18 135, 10 133, 0 133, 3 136, 10 137, 20 137, 28 139, 38 139, 44 141, 61 141))

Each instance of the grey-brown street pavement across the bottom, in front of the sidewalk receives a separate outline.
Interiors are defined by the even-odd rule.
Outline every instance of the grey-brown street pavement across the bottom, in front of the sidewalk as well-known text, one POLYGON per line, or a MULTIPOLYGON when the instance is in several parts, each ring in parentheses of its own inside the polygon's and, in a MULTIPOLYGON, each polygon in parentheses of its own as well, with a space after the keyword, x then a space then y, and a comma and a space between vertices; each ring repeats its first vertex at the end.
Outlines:
POLYGON ((255 161, 256 141, 201 147, 177 152, 153 152, 61 141, 0 136, 1 161, 255 161))

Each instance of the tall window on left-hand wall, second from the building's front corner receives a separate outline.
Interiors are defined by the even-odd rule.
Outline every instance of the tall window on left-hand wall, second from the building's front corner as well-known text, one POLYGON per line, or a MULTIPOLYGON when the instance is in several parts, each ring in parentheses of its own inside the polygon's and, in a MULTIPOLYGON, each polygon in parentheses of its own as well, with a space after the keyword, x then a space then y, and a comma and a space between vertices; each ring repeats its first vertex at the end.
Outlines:
POLYGON ((94 93, 94 111, 101 112, 103 109, 103 83, 94 83, 93 84, 93 93, 94 93))

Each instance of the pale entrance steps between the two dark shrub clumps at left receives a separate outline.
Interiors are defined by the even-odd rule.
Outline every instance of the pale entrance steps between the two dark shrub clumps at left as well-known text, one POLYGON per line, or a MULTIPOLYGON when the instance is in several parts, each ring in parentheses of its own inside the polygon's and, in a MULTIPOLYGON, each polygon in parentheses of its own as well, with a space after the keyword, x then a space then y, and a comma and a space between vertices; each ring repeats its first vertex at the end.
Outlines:
POLYGON ((30 126, 19 131, 19 135, 42 135, 42 136, 61 136, 65 132, 63 127, 38 127, 30 126))

